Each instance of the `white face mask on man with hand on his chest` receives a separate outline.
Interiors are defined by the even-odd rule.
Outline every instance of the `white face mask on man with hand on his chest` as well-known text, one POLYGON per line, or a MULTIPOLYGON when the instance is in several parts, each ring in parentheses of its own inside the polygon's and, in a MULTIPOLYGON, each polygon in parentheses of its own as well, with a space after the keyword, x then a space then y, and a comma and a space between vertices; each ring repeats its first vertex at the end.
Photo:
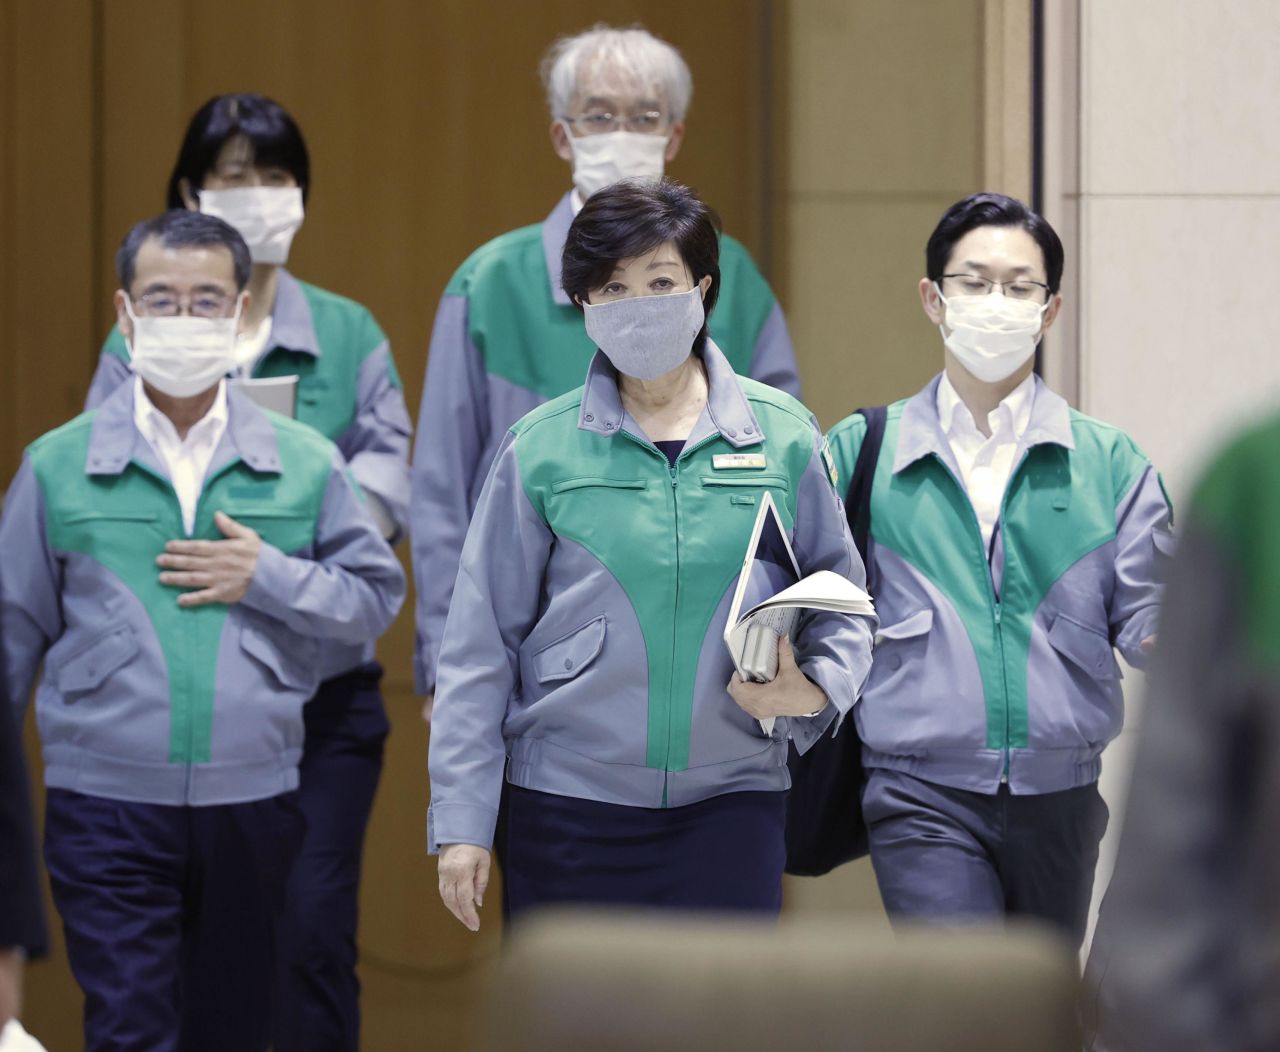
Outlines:
POLYGON ((243 297, 236 301, 233 317, 140 317, 125 298, 124 310, 133 323, 128 342, 133 371, 172 398, 209 390, 236 367, 236 331, 243 302, 243 297))

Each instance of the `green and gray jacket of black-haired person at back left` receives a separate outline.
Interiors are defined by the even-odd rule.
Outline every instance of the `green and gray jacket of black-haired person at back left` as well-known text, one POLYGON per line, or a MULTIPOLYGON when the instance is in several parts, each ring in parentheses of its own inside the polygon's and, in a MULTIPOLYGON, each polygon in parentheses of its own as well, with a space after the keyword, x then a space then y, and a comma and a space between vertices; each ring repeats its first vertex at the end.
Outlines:
MULTIPOLYGON (((132 376, 119 329, 102 346, 86 410, 99 406, 132 376)), ((297 376, 297 418, 333 442, 366 494, 394 525, 392 544, 408 525, 408 445, 412 425, 390 344, 360 303, 279 271, 271 338, 253 376, 297 376)), ((328 680, 372 660, 374 645, 330 646, 328 680)))

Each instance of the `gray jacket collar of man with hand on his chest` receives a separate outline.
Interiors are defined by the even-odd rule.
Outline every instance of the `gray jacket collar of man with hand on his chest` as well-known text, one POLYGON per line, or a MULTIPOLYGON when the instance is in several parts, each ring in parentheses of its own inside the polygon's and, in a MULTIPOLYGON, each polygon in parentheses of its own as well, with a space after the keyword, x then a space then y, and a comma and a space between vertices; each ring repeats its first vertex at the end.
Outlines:
MULTIPOLYGON (((133 384, 119 384, 97 407, 90 433, 86 475, 120 475, 129 463, 138 463, 155 475, 169 477, 133 420, 133 384)), ((247 394, 227 388, 227 430, 209 463, 209 477, 234 461, 253 471, 280 474, 280 449, 275 429, 247 394)))

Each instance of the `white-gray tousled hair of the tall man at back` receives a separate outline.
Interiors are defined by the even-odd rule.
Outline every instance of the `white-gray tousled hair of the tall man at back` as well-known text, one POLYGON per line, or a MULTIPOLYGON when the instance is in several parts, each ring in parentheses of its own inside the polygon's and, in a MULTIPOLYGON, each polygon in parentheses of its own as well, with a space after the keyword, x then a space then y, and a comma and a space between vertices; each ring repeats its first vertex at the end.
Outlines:
POLYGON ((579 84, 609 67, 658 88, 671 119, 685 119, 694 78, 681 54, 641 26, 614 29, 602 22, 576 36, 559 37, 543 56, 539 72, 552 118, 567 116, 579 84))

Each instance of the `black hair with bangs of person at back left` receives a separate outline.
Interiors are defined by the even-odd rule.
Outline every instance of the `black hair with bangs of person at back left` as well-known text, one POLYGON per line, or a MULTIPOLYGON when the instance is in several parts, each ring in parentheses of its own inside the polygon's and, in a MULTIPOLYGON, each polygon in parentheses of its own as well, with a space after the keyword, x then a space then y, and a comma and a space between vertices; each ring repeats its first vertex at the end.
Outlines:
POLYGON ((184 207, 182 180, 186 179, 193 191, 200 189, 218 163, 218 154, 236 136, 244 136, 253 147, 253 164, 288 171, 302 188, 306 202, 311 159, 298 125, 279 102, 262 95, 239 92, 214 96, 191 118, 173 174, 169 175, 166 207, 184 207))

